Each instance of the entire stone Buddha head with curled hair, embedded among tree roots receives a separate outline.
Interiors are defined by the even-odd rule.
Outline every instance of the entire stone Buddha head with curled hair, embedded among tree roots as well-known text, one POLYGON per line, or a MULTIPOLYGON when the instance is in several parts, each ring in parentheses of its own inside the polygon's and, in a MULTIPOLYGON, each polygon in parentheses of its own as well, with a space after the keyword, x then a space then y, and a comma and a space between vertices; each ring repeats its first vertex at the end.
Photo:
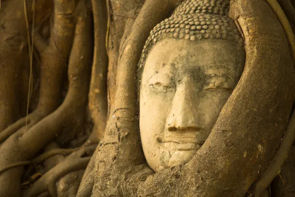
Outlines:
POLYGON ((188 162, 207 139, 245 63, 230 0, 186 0, 150 32, 138 68, 149 166, 188 162))

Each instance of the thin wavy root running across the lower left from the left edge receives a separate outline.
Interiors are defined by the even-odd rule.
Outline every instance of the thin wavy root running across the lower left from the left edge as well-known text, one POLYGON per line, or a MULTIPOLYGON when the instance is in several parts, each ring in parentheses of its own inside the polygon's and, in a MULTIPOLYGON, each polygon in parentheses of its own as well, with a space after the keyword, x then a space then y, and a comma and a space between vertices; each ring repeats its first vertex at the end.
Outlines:
POLYGON ((15 164, 8 165, 0 170, 0 174, 8 169, 22 166, 22 165, 29 165, 29 164, 38 164, 43 162, 44 160, 54 156, 54 155, 68 155, 74 151, 78 150, 78 148, 72 148, 72 149, 54 149, 51 151, 47 151, 43 153, 42 155, 36 157, 35 159, 32 159, 31 161, 24 161, 24 162, 18 162, 15 164))

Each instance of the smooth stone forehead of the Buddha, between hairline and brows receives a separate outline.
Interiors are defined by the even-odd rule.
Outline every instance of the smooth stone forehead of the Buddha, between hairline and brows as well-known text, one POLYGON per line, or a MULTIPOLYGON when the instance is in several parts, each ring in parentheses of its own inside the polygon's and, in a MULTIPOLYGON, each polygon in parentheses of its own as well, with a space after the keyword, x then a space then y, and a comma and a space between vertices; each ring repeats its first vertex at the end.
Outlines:
POLYGON ((193 72, 202 69, 206 74, 225 70, 235 71, 242 62, 244 52, 235 43, 211 39, 190 41, 166 38, 159 41, 148 54, 145 70, 148 72, 193 72))

